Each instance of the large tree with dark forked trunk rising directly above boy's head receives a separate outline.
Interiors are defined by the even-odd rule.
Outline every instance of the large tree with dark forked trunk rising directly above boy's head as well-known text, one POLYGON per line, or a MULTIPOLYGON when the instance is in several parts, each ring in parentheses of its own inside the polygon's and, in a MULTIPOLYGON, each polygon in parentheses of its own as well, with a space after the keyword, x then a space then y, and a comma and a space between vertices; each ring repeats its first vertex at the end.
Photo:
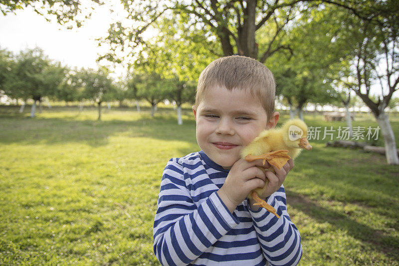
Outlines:
MULTIPOLYGON (((337 5, 354 14, 366 17, 368 12, 362 4, 370 0, 121 0, 128 13, 129 24, 116 22, 108 30, 109 36, 100 39, 109 45, 112 52, 101 58, 121 62, 120 52, 132 51, 123 55, 134 57, 136 48, 146 46, 145 33, 150 28, 159 28, 163 18, 179 17, 176 23, 189 30, 203 31, 199 42, 205 47, 217 43, 221 53, 218 56, 242 54, 265 62, 280 51, 292 51, 288 44, 279 40, 286 29, 295 21, 297 14, 306 12, 312 3, 337 5), (362 8, 363 9, 362 9, 362 8), (267 38, 261 35, 267 31, 267 38), (128 49, 129 48, 129 49, 128 49)), ((369 6, 369 4, 367 4, 369 6)))

